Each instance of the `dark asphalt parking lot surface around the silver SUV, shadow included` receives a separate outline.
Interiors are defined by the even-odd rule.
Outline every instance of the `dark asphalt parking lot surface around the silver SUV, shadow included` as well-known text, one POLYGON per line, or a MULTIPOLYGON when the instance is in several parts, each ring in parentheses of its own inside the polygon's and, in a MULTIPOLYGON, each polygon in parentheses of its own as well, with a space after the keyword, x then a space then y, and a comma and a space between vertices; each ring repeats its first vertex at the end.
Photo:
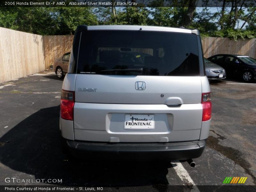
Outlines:
POLYGON ((203 155, 194 159, 194 168, 186 161, 71 161, 60 150, 62 80, 45 71, 2 83, 0 185, 35 185, 5 181, 17 178, 40 180, 38 185, 135 187, 138 191, 141 186, 158 190, 157 185, 196 185, 194 189, 200 191, 202 185, 228 185, 223 184, 226 177, 248 177, 244 185, 255 185, 255 83, 211 83, 210 136, 203 155))

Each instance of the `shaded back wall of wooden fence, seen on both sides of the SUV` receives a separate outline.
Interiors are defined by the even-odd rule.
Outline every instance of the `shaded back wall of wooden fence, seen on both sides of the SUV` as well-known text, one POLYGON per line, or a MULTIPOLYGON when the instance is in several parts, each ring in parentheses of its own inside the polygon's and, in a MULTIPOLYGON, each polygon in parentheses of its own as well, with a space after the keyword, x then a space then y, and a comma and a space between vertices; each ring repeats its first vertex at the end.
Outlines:
MULTIPOLYGON (((74 36, 44 36, 45 65, 49 67, 60 55, 69 52, 72 47, 74 36)), ((238 39, 206 37, 202 39, 204 57, 208 58, 215 54, 230 53, 247 55, 256 58, 256 38, 238 39)))

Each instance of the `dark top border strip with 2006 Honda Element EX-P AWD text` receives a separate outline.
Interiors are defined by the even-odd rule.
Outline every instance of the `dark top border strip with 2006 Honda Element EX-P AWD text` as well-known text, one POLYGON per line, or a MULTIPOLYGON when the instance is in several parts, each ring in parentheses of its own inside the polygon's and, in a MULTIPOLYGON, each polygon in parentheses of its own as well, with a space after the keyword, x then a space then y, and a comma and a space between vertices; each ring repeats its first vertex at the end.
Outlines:
POLYGON ((1 0, 0 7, 255 7, 256 0, 1 0))

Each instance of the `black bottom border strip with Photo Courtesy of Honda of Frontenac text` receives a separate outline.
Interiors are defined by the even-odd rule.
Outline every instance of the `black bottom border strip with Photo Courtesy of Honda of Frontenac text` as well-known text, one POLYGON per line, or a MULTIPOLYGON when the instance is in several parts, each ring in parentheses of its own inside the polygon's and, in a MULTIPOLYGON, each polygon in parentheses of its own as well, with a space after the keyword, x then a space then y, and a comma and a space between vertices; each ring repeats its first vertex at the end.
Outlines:
MULTIPOLYGON (((197 185, 200 192, 253 192, 256 191, 255 185, 232 184, 232 185, 197 185)), ((151 185, 151 186, 131 186, 131 187, 104 187, 104 186, 58 186, 58 185, 2 185, 1 192, 151 192, 151 191, 190 191, 195 186, 193 185, 151 185), (41 188, 41 189, 39 189, 41 188)))

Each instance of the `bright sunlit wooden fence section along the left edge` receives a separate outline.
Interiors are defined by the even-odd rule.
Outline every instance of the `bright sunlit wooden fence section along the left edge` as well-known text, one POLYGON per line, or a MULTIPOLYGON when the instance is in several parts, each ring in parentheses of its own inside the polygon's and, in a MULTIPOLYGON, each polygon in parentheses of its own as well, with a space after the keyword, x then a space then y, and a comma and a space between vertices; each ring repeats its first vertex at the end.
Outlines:
POLYGON ((0 83, 44 69, 42 36, 0 28, 0 83))

